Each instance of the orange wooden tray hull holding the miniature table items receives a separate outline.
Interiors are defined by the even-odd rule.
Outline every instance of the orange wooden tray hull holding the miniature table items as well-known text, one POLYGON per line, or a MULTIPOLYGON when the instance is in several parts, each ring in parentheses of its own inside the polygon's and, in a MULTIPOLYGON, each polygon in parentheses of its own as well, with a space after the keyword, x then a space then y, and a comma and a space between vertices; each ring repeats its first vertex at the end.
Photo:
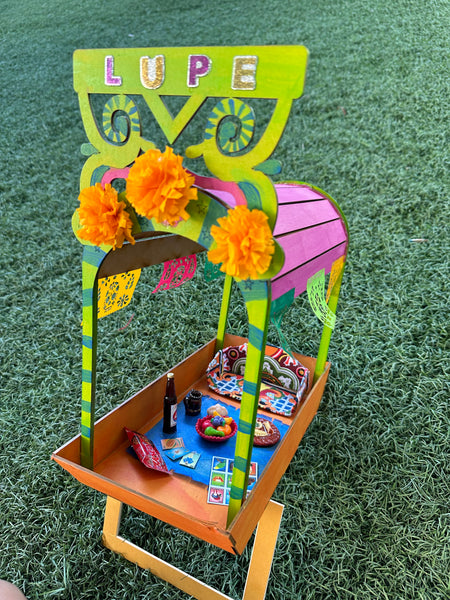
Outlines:
MULTIPOLYGON (((225 345, 246 341, 233 335, 225 337, 225 345)), ((211 340, 171 369, 177 381, 178 401, 196 388, 222 403, 238 406, 232 400, 213 394, 206 383, 206 368, 214 356, 215 342, 211 340)), ((268 346, 266 353, 271 352, 273 348, 268 346)), ((295 356, 314 372, 314 358, 295 356)), ((326 363, 323 374, 293 418, 277 415, 277 419, 290 425, 289 429, 274 447, 269 463, 228 528, 227 507, 207 503, 206 485, 182 475, 168 477, 146 469, 126 452, 129 442, 124 426, 145 433, 162 418, 165 375, 96 422, 92 471, 80 465, 80 435, 55 451, 52 458, 83 484, 230 553, 241 554, 317 412, 329 368, 330 364, 326 363)))

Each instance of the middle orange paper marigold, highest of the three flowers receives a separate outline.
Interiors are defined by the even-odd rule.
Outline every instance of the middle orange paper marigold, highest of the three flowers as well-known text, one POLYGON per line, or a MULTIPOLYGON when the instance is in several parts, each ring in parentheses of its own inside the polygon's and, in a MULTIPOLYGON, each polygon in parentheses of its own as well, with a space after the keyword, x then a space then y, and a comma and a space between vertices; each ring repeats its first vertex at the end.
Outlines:
POLYGON ((186 206, 197 199, 194 176, 183 168, 183 157, 167 146, 138 156, 127 177, 127 199, 136 212, 158 223, 186 221, 186 206))

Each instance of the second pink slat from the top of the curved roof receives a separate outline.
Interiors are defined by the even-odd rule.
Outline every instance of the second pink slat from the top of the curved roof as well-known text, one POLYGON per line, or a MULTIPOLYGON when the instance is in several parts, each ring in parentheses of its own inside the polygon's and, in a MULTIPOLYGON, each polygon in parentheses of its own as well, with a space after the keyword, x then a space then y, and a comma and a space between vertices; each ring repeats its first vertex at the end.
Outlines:
POLYGON ((275 236, 283 235, 296 229, 304 229, 338 218, 340 215, 329 200, 281 204, 278 207, 277 222, 273 233, 275 236))

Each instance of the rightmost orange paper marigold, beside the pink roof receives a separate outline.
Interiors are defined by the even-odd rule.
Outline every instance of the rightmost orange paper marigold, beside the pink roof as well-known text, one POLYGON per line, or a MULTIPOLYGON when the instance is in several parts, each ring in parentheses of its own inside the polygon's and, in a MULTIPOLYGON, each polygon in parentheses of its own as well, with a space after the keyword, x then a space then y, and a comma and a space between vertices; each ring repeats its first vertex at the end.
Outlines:
POLYGON ((240 205, 221 217, 211 227, 217 246, 208 252, 221 271, 239 279, 256 279, 267 271, 275 252, 275 243, 268 217, 258 209, 240 205))

